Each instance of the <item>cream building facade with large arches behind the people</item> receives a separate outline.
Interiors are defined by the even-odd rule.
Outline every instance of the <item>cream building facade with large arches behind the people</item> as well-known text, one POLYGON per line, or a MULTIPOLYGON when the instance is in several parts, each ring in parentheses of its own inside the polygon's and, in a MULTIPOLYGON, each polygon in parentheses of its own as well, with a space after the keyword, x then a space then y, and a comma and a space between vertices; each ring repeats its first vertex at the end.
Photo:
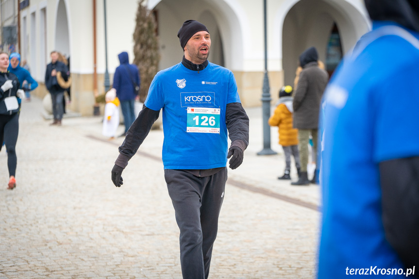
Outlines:
MULTIPOLYGON (((47 94, 42 86, 45 68, 50 51, 58 50, 70 57, 71 109, 92 115, 95 88, 98 94, 104 93, 106 69, 112 83, 119 65, 117 54, 127 51, 130 61, 134 60, 137 5, 137 0, 30 0, 19 13, 19 52, 41 84, 35 94, 47 94)), ((263 0, 149 0, 147 5, 157 17, 160 69, 181 61, 183 51, 177 32, 185 20, 199 20, 211 33, 209 61, 234 72, 244 106, 261 105, 265 70, 263 0)), ((363 0, 267 0, 272 101, 281 86, 293 84, 298 56, 304 49, 315 46, 320 60, 332 72, 341 56, 369 28, 363 0)))

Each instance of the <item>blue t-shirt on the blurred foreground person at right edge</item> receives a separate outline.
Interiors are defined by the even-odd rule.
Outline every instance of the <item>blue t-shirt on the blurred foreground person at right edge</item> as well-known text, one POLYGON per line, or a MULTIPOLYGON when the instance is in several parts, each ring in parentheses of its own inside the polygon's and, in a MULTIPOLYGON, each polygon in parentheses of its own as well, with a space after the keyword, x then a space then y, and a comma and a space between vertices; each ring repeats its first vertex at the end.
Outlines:
POLYGON ((374 22, 326 88, 318 278, 405 277, 385 239, 379 163, 419 155, 418 37, 374 22))

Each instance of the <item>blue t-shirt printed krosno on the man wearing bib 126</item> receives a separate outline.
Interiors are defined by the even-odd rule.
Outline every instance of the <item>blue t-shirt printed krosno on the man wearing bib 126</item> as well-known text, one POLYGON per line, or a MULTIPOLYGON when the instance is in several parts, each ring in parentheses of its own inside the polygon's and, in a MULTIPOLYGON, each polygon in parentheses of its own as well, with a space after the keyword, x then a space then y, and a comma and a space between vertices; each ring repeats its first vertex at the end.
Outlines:
POLYGON ((208 63, 193 71, 182 63, 157 73, 145 105, 163 109, 165 169, 210 169, 227 163, 228 103, 240 102, 233 73, 208 63))

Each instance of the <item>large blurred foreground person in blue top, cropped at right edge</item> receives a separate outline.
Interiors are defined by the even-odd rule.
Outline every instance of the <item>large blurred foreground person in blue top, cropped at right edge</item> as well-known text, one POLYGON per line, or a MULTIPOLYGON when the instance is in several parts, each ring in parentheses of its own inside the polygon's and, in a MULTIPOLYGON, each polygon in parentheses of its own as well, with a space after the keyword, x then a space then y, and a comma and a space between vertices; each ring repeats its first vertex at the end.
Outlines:
POLYGON ((318 278, 419 278, 419 1, 365 4, 325 93, 318 278))

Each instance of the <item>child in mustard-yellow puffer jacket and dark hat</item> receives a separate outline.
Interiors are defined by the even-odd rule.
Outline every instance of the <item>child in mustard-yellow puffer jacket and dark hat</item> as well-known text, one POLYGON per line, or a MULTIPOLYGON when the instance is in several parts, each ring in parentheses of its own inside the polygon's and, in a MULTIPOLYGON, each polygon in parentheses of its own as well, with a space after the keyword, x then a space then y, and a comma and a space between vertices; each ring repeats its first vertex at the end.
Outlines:
POLYGON ((270 126, 278 126, 279 144, 284 148, 285 171, 280 180, 290 180, 291 154, 294 156, 295 166, 300 177, 300 155, 298 152, 298 130, 292 128, 292 87, 287 85, 279 91, 278 105, 269 118, 270 126))

